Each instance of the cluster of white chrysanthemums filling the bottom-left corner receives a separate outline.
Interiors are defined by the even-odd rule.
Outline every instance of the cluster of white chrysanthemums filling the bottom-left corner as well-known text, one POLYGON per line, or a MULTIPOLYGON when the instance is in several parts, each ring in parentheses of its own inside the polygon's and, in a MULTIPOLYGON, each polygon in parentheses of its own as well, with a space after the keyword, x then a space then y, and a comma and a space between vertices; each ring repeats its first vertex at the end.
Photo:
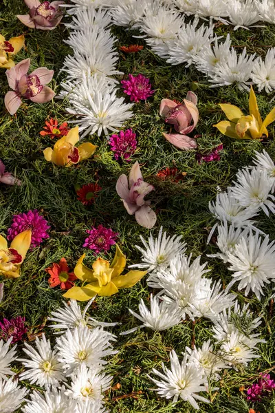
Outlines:
MULTIPOLYGON (((16 357, 16 346, 9 350, 0 341, 0 412, 12 413, 21 407, 24 413, 104 413, 104 392, 111 387, 113 377, 104 373, 105 357, 115 354, 112 342, 115 336, 106 332, 102 324, 86 317, 89 301, 83 313, 75 300, 65 303, 52 313, 51 321, 58 337, 54 347, 43 334, 36 337, 35 346, 25 343, 26 359, 16 357), (13 380, 10 369, 13 361, 21 361, 25 370, 19 374, 21 381, 40 386, 43 393, 29 390, 13 380)), ((113 326, 115 324, 104 324, 113 326)))

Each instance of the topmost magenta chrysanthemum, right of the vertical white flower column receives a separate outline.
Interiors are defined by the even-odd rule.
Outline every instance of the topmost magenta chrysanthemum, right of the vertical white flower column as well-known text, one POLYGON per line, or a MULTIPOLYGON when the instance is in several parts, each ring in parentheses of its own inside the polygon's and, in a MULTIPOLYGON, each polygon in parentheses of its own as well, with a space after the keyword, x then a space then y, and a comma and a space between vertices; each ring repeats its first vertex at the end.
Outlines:
POLYGON ((152 89, 150 79, 138 74, 133 76, 129 74, 127 81, 121 81, 124 93, 130 96, 130 100, 134 102, 140 102, 140 100, 146 100, 155 93, 152 89))

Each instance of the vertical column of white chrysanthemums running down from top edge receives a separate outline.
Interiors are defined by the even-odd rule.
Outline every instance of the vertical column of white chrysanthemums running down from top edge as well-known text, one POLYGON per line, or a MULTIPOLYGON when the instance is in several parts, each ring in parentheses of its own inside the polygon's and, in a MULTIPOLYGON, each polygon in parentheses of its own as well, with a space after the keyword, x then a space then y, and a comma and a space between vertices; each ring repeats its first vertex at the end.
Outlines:
POLYGON ((116 39, 108 28, 111 15, 108 10, 96 10, 102 6, 101 1, 79 0, 75 6, 69 10, 77 12, 72 23, 66 24, 71 32, 65 41, 74 53, 64 61, 62 71, 67 73, 67 79, 61 84, 60 97, 69 102, 67 112, 76 116, 73 123, 79 125, 82 136, 100 136, 102 132, 107 135, 133 116, 133 105, 116 96, 118 81, 112 76, 122 72, 116 68, 116 39), (89 3, 93 7, 86 7, 89 3))

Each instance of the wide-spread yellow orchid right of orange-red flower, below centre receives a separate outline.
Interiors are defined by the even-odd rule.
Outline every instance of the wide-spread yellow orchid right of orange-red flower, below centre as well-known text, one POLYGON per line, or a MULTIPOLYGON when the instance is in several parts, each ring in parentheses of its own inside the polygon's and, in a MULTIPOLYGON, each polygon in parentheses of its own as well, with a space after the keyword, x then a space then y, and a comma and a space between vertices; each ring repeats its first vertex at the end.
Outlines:
POLYGON ((63 295, 66 298, 77 299, 78 301, 87 301, 94 295, 102 295, 109 297, 118 293, 120 288, 130 288, 137 284, 146 274, 146 271, 129 271, 125 275, 121 275, 126 265, 126 257, 116 245, 115 257, 111 264, 98 258, 92 265, 92 269, 83 264, 85 254, 80 257, 74 274, 83 282, 88 282, 83 287, 72 287, 63 295))

